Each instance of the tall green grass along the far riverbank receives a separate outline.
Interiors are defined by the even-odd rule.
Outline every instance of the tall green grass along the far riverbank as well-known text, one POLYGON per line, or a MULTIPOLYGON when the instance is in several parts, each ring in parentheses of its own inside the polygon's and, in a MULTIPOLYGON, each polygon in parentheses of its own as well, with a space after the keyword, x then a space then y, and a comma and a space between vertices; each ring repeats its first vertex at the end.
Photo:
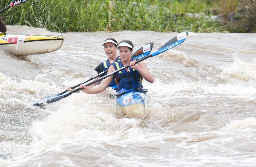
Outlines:
MULTIPOLYGON (((237 0, 232 1, 237 2, 237 0)), ((1 1, 1 9, 9 3, 10 1, 1 1)), ((210 10, 219 7, 217 3, 222 2, 218 0, 29 0, 1 13, 1 18, 6 25, 27 25, 55 32, 122 30, 228 32, 230 26, 211 20, 210 10)), ((232 27, 232 31, 236 29, 232 27)))

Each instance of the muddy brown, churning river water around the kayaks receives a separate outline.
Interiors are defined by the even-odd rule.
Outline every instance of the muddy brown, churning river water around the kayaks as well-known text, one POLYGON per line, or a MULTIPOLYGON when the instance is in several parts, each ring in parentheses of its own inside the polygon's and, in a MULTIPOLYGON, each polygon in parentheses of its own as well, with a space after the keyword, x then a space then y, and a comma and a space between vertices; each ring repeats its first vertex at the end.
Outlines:
MULTIPOLYGON (((58 36, 27 26, 7 34, 58 36)), ((106 38, 153 51, 178 33, 63 33, 52 53, 17 57, 0 48, 0 166, 255 166, 256 34, 192 33, 145 60, 148 115, 126 118, 113 91, 46 96, 95 75, 106 38)), ((39 46, 40 47, 40 46, 39 46)))

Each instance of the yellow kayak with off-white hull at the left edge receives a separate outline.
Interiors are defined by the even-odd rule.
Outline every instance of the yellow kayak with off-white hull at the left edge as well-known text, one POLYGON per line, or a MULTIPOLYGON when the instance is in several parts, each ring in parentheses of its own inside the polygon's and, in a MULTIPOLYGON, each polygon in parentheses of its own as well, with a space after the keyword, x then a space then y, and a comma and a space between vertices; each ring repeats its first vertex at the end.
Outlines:
POLYGON ((62 47, 64 38, 38 35, 6 35, 0 33, 0 48, 13 55, 50 53, 62 47))

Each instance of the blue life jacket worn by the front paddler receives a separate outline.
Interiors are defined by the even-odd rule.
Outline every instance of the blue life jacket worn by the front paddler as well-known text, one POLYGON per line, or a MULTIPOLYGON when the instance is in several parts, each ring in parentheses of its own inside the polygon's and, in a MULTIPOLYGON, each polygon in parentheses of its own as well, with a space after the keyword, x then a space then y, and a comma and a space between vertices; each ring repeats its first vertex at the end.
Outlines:
MULTIPOLYGON (((115 70, 122 68, 124 65, 121 61, 117 61, 112 64, 115 67, 115 70)), ((122 88, 125 88, 126 90, 134 89, 134 88, 142 88, 142 80, 143 77, 140 75, 140 73, 135 69, 131 68, 126 71, 126 69, 123 69, 115 75, 115 83, 117 84, 117 91, 120 91, 122 88)))

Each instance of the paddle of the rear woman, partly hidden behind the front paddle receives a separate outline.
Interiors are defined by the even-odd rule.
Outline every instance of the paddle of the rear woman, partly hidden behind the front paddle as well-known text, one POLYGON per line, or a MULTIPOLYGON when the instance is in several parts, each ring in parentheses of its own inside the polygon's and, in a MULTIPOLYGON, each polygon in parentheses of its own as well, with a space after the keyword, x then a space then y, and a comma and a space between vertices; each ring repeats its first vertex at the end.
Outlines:
MULTIPOLYGON (((132 54, 132 58, 133 58, 133 57, 138 57, 138 56, 146 56, 146 55, 149 55, 150 52, 151 52, 151 50, 152 50, 152 48, 153 48, 153 45, 154 45, 154 42, 148 42, 148 43, 145 43, 144 45, 140 46, 140 47, 132 54)), ((85 80, 85 81, 83 81, 83 82, 81 82, 81 83, 79 83, 79 84, 77 84, 77 85, 71 87, 71 89, 74 89, 74 88, 76 88, 76 87, 78 87, 78 86, 80 86, 80 85, 82 85, 82 84, 84 84, 84 83, 86 83, 86 82, 89 82, 89 81, 93 80, 94 78, 97 78, 98 76, 100 76, 100 75, 102 75, 102 74, 104 74, 104 73, 106 73, 106 72, 107 72, 107 70, 105 70, 105 71, 103 71, 103 72, 101 72, 101 73, 99 73, 99 74, 97 74, 97 75, 94 75, 93 77, 91 77, 91 78, 89 78, 89 79, 87 79, 87 80, 85 80)), ((98 81, 100 81, 100 80, 97 80, 97 82, 98 82, 98 81)), ((93 82, 93 83, 95 83, 95 82, 93 82)), ((93 84, 93 83, 92 83, 92 84, 93 84)), ((89 85, 91 85, 91 84, 89 84, 89 85)), ((56 102, 56 101, 58 101, 58 100, 52 101, 52 99, 56 99, 56 98, 58 97, 59 100, 61 100, 61 99, 65 98, 63 94, 65 94, 65 93, 67 93, 67 92, 68 92, 68 91, 65 90, 65 91, 63 91, 63 92, 61 92, 61 93, 58 93, 58 94, 56 94, 56 95, 45 97, 45 99, 43 99, 43 100, 41 100, 41 101, 39 101, 39 102, 34 103, 34 105, 35 105, 35 106, 44 106, 45 103, 48 104, 48 103, 56 102), (63 95, 63 96, 62 96, 62 95, 63 95)), ((70 91, 70 92, 72 92, 72 91, 70 91)))

